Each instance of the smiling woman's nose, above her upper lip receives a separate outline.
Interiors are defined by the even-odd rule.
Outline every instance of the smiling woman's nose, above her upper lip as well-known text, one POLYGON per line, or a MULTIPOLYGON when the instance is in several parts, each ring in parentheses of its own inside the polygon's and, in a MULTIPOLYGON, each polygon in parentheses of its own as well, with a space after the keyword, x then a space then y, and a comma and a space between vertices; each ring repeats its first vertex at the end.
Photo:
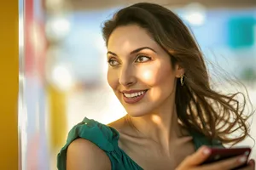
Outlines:
POLYGON ((119 73, 119 83, 125 87, 129 87, 137 82, 134 70, 129 66, 123 66, 119 73))

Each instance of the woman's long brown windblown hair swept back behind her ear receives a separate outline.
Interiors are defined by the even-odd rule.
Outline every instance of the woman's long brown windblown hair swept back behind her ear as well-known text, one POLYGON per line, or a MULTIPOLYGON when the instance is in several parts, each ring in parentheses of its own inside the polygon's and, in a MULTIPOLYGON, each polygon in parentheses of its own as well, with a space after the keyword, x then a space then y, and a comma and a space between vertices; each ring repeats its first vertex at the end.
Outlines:
POLYGON ((184 127, 223 144, 236 144, 247 137, 248 116, 243 115, 245 98, 239 103, 236 95, 241 93, 224 95, 211 88, 201 49, 176 14, 154 3, 136 3, 123 8, 104 23, 102 33, 106 45, 114 29, 131 24, 148 31, 170 55, 172 65, 181 65, 185 70, 185 83, 182 86, 177 81, 176 91, 177 116, 184 127), (238 129, 241 135, 231 137, 238 129))

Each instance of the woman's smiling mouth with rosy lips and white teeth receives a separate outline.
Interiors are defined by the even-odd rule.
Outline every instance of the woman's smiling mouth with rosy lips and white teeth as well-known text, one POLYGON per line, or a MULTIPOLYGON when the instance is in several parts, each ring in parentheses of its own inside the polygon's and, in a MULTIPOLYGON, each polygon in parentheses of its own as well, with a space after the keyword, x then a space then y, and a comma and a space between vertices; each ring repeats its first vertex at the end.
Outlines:
POLYGON ((148 90, 131 90, 131 91, 122 91, 123 99, 127 104, 135 104, 147 94, 148 90))

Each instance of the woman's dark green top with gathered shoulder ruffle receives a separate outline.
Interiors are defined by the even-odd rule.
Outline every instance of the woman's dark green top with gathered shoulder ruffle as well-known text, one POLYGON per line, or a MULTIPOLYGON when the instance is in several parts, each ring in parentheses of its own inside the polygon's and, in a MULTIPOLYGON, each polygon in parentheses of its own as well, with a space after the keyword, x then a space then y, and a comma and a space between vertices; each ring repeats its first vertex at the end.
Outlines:
MULTIPOLYGON (((199 133, 191 133, 191 135, 193 137, 196 150, 200 148, 201 145, 222 146, 216 141, 210 142, 199 133)), ((67 143, 57 156, 58 170, 66 170, 67 147, 73 142, 73 140, 79 138, 90 140, 90 142, 104 150, 111 161, 112 170, 143 170, 143 168, 138 166, 131 157, 125 154, 124 150, 119 148, 119 132, 116 129, 108 127, 100 122, 90 120, 86 117, 84 117, 83 122, 74 126, 68 133, 67 143)))

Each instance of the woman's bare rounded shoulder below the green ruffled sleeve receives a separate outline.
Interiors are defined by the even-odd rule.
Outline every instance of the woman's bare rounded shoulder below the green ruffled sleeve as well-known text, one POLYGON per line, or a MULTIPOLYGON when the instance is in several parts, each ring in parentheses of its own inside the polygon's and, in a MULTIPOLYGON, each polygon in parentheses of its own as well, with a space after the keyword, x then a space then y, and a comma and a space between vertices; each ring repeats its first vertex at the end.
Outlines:
POLYGON ((86 139, 76 139, 67 148, 67 170, 110 170, 106 153, 86 139))

